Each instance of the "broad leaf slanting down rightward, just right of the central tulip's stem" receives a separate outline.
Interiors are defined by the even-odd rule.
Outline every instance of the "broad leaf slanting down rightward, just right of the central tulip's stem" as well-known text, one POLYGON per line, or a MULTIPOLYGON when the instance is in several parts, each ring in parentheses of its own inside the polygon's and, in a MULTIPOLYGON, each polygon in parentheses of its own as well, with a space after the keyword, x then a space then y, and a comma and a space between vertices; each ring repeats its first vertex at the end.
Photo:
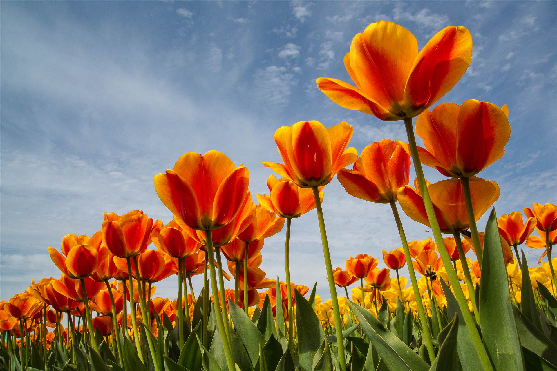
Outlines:
POLYGON ((419 358, 402 340, 385 328, 383 323, 375 318, 373 314, 350 301, 348 305, 353 310, 370 342, 377 349, 379 357, 384 360, 389 369, 429 370, 429 365, 419 358))

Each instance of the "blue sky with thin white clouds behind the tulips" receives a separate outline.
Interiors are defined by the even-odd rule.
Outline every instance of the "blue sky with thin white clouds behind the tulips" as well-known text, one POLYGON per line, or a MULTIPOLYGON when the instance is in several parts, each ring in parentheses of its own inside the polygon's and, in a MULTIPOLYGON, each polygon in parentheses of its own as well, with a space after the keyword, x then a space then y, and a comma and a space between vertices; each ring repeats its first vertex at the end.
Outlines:
MULTIPOLYGON (((505 156, 480 174, 501 187, 497 214, 556 203, 556 13, 550 1, 0 2, 0 299, 58 277, 47 246, 91 235, 105 211, 168 222, 153 176, 184 152, 216 149, 245 164, 255 195, 268 192, 261 161, 280 160, 272 135, 282 125, 347 121, 358 152, 405 140, 402 123, 345 110, 315 85, 350 81, 351 38, 380 19, 408 28, 419 47, 451 24, 470 29, 472 64, 439 103, 509 105, 505 156)), ((380 251, 400 246, 389 207, 336 179, 323 207, 333 266, 358 253, 383 266, 380 251)), ((409 239, 429 236, 403 223, 409 239)), ((270 278, 284 277, 284 236, 262 250, 270 278)), ((290 246, 292 281, 318 281, 328 296, 315 211, 294 220, 290 246)), ((175 296, 175 285, 159 283, 158 295, 175 296)))

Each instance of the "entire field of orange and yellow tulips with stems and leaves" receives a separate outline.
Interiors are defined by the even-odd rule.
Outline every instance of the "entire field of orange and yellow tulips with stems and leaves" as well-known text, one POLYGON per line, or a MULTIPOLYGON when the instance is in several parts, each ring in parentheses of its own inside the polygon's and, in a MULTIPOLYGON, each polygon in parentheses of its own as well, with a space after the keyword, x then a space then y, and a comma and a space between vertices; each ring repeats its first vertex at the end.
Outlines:
POLYGON ((358 156, 348 147, 353 128, 346 122, 330 128, 318 121, 283 126, 274 136, 283 163, 263 162, 282 177, 267 179, 270 194, 257 195, 259 204, 248 190, 243 165, 218 151, 180 156, 173 169, 154 177, 155 191, 173 214, 168 224, 139 210, 105 213, 101 229, 90 238, 67 235, 61 253, 48 248, 61 278, 43 279, 3 304, 3 366, 85 369, 89 364, 94 370, 154 371, 556 367, 555 205, 525 208, 526 222, 520 212, 497 219, 492 210, 485 232, 476 225, 500 195, 496 182, 477 175, 504 154, 509 110, 477 100, 429 110, 460 80, 471 57, 472 38, 465 27, 442 29, 418 52, 407 29, 384 21, 370 24, 354 37, 344 58, 355 86, 334 78, 319 78, 317 86, 340 106, 385 121, 402 120, 408 142, 384 139, 358 156), (424 147, 416 144, 414 117, 424 147), (417 175, 413 186, 411 157, 417 175), (422 164, 448 179, 429 184, 422 164), (387 268, 360 254, 346 261, 346 270, 333 270, 321 202, 335 175, 348 194, 390 206, 402 248, 383 252, 387 268), (408 242, 398 206, 431 228, 433 239, 408 242), (306 299, 309 288, 290 280, 292 220, 312 209, 331 295, 324 302, 315 286, 306 299), (267 278, 260 265, 264 240, 284 224, 286 280, 281 282, 267 278), (534 228, 539 237, 530 236, 534 228), (546 265, 527 268, 517 248, 525 241, 545 249, 546 265), (148 249, 151 243, 156 250, 148 249), (477 257, 473 262, 466 257, 470 250, 477 257), (408 288, 399 276, 404 265, 408 288), (396 279, 390 277, 392 269, 396 279), (177 300, 153 298, 153 284, 173 274, 178 276, 177 300), (201 274, 203 290, 196 298, 192 277, 201 274), (232 278, 234 289, 225 289, 224 280, 232 278), (338 296, 336 286, 345 288, 345 297, 338 296), (100 315, 93 318, 93 311, 100 315), (49 324, 56 336, 47 332, 49 324))

